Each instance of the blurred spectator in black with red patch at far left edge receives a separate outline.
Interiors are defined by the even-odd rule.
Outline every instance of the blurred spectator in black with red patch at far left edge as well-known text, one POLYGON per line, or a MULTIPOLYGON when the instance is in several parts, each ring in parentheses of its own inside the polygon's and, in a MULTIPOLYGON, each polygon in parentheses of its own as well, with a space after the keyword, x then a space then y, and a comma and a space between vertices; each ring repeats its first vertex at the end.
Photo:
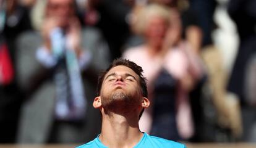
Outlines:
POLYGON ((0 142, 4 143, 15 141, 22 102, 16 81, 15 40, 30 29, 28 10, 19 1, 0 1, 0 142))

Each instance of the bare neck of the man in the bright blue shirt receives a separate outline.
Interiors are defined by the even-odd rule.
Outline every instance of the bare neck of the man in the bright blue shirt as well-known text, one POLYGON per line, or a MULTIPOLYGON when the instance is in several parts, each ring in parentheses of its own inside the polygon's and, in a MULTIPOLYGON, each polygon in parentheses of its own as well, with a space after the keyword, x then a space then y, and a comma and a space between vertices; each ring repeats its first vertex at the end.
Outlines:
POLYGON ((103 115, 100 141, 108 147, 134 147, 142 138, 137 117, 103 115))

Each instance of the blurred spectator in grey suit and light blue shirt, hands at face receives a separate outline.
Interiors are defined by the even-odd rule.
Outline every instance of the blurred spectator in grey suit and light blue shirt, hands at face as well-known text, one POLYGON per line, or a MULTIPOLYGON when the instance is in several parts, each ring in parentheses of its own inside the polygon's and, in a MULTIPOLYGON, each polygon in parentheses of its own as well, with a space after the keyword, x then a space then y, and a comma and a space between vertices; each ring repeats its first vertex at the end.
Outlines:
POLYGON ((27 32, 17 41, 19 85, 26 94, 18 142, 82 142, 98 133, 100 118, 87 102, 96 73, 108 65, 108 48, 97 30, 82 30, 74 4, 48 0, 41 36, 27 32))

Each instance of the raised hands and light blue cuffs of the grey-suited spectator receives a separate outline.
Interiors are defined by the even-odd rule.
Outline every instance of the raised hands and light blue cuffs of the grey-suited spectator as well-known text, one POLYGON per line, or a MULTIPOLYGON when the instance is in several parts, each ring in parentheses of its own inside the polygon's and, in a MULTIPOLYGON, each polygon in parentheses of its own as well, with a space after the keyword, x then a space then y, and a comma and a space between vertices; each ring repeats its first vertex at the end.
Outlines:
POLYGON ((80 24, 76 18, 71 18, 67 30, 62 30, 54 18, 45 19, 41 35, 43 46, 36 52, 36 59, 46 68, 54 67, 58 56, 64 54, 64 48, 72 50, 77 55, 80 69, 85 69, 92 59, 92 55, 80 46, 80 24), (66 41, 64 36, 66 32, 66 41), (62 41, 61 41, 62 40, 62 41))

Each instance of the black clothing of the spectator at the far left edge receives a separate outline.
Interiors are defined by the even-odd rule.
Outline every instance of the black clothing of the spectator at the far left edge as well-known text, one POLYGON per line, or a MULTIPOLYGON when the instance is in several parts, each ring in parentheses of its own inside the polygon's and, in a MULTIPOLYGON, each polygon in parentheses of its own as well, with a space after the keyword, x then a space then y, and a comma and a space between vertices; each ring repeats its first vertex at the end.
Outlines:
MULTIPOLYGON (((15 40, 25 30, 30 30, 30 19, 28 10, 17 6, 11 16, 6 16, 4 28, 0 30, 1 43, 7 45, 12 68, 14 69, 14 78, 9 84, 0 84, 0 143, 15 142, 17 122, 19 120, 19 109, 22 103, 22 95, 16 83, 15 68, 15 40)), ((0 44, 1 44, 0 43, 0 44)), ((0 45, 1 46, 1 45, 0 45)))

